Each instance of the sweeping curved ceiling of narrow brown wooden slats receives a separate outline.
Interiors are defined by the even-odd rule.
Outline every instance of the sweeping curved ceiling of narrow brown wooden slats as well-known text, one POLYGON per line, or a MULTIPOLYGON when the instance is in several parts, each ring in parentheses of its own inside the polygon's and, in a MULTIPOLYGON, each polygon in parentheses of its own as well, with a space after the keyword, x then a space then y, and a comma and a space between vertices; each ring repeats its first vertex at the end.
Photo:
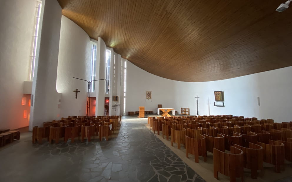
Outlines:
POLYGON ((285 0, 58 0, 62 14, 131 63, 202 82, 292 65, 285 0))

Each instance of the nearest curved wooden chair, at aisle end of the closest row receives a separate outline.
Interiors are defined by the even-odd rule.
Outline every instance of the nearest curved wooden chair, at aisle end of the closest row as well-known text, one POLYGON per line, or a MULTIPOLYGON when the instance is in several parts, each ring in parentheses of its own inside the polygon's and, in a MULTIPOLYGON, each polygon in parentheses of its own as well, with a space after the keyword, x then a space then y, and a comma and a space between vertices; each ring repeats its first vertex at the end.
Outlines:
POLYGON ((225 153, 213 148, 214 177, 218 179, 218 172, 230 176, 230 181, 235 182, 241 177, 243 181, 243 151, 231 146, 230 153, 225 153))

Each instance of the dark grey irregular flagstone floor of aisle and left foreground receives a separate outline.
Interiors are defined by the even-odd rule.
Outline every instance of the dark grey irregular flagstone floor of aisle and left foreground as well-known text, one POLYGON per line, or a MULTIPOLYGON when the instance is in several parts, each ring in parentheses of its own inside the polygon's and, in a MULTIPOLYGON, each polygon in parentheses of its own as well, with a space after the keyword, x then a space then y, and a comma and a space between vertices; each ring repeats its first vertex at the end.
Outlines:
POLYGON ((32 144, 31 132, 0 148, 0 181, 204 181, 146 127, 123 116, 109 141, 32 144))

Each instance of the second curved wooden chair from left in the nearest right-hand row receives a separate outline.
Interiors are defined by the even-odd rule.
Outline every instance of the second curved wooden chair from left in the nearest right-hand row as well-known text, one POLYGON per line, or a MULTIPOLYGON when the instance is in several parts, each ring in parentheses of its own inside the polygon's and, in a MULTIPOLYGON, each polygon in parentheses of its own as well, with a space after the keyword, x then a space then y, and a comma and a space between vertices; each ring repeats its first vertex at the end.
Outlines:
POLYGON ((237 144, 234 147, 243 151, 243 167, 251 170, 251 178, 257 178, 257 170, 263 169, 263 147, 249 143, 247 147, 237 144))

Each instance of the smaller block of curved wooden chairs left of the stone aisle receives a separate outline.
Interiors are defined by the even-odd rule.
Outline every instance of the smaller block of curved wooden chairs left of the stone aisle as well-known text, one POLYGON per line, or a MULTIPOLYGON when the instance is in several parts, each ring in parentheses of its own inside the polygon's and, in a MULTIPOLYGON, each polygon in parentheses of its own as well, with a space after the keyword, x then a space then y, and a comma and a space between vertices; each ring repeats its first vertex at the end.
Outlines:
POLYGON ((93 120, 59 120, 52 122, 44 122, 43 127, 34 127, 32 134, 32 143, 38 141, 42 144, 42 140, 47 138, 49 143, 55 141, 59 143, 59 139, 64 138, 64 142, 71 139, 71 143, 74 143, 75 138, 78 137, 81 141, 87 138, 90 141, 91 138, 99 136, 99 140, 105 137, 108 141, 112 132, 118 130, 120 126, 119 117, 107 117, 107 118, 93 118, 93 120))

